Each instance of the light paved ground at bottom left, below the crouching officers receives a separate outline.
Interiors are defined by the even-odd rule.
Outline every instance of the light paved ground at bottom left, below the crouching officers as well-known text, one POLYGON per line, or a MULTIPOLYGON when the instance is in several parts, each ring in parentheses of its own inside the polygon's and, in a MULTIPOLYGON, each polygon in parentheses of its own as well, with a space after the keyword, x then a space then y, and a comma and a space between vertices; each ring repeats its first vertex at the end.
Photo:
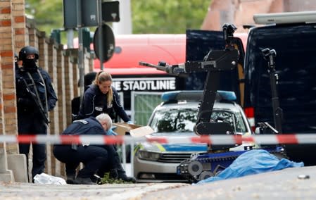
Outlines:
POLYGON ((39 185, 0 182, 0 199, 141 199, 148 192, 185 185, 187 184, 39 185))

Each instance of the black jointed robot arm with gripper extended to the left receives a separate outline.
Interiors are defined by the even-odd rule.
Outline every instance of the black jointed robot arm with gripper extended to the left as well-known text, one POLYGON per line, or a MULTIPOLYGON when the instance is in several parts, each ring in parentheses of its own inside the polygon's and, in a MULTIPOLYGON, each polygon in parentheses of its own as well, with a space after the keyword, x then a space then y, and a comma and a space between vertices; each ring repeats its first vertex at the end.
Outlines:
POLYGON ((213 106, 217 94, 220 72, 233 70, 239 59, 239 51, 232 46, 232 38, 236 27, 234 25, 223 26, 225 49, 210 51, 203 61, 187 61, 177 65, 167 65, 159 62, 158 65, 139 62, 139 65, 145 65, 166 73, 179 75, 181 73, 206 72, 206 83, 203 89, 203 96, 198 111, 198 120, 194 132, 196 135, 211 135, 213 133, 232 132, 233 128, 227 123, 210 122, 210 116, 213 112, 213 106))

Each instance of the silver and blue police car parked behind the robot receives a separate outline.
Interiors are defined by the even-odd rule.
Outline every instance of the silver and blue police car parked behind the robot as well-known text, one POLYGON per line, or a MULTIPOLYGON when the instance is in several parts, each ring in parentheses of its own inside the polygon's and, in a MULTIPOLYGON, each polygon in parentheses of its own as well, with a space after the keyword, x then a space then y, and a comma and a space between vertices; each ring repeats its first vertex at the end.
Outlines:
MULTIPOLYGON (((203 91, 174 91, 162 94, 163 103, 157 106, 148 125, 154 133, 147 137, 194 137, 199 102, 203 91)), ((234 102, 234 92, 217 91, 211 115, 234 127, 240 135, 250 135, 246 115, 234 102)), ((187 182, 177 175, 177 165, 191 154, 207 151, 206 144, 158 144, 143 142, 134 149, 133 170, 137 182, 187 182)))

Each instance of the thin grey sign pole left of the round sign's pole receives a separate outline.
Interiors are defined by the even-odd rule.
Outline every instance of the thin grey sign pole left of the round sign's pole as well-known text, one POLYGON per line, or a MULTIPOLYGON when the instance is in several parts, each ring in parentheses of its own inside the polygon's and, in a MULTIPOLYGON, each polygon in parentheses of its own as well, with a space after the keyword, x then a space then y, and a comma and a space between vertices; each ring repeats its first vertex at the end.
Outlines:
MULTIPOLYGON (((84 94, 84 51, 83 51, 83 39, 82 39, 82 18, 81 18, 81 0, 77 0, 77 28, 78 28, 78 68, 80 77, 80 94, 84 94)), ((80 99, 80 103, 82 98, 80 99)))

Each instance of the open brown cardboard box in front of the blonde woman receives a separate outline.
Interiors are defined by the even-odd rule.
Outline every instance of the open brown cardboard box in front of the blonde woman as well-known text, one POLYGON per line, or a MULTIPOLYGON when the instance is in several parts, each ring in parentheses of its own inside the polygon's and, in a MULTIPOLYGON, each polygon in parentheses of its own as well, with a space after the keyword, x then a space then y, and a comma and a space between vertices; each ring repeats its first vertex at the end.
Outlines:
POLYGON ((118 135, 142 137, 153 133, 153 129, 149 126, 133 125, 127 123, 113 123, 113 126, 116 126, 114 131, 118 133, 118 135))

